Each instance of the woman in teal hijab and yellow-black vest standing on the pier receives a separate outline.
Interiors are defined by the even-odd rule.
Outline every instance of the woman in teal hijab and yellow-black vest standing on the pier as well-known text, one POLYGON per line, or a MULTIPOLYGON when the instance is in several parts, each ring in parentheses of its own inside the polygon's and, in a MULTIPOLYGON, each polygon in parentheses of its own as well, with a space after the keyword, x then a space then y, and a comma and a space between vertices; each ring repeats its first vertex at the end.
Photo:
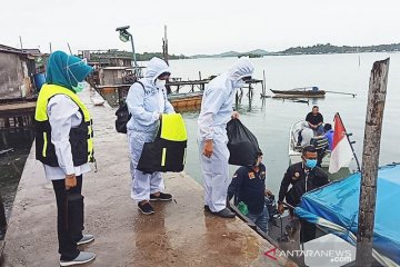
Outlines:
POLYGON ((81 195, 82 175, 90 171, 88 162, 93 159, 92 128, 89 110, 77 96, 91 71, 82 59, 53 52, 34 115, 36 156, 56 194, 60 266, 86 264, 96 257, 78 249, 94 240, 92 235, 82 235, 81 195))

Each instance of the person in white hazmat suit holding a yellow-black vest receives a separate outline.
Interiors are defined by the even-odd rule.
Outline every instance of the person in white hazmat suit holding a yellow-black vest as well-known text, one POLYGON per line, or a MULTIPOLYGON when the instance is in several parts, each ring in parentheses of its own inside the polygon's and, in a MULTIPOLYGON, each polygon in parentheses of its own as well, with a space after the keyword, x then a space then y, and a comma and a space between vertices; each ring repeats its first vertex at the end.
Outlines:
POLYGON ((144 142, 151 142, 156 138, 161 115, 174 113, 167 99, 166 80, 169 76, 168 65, 159 58, 152 58, 146 77, 140 79, 143 86, 133 83, 127 96, 128 110, 132 115, 127 125, 132 176, 131 198, 138 201, 138 208, 144 215, 154 214, 149 200, 172 199, 170 194, 162 192, 164 185, 161 172, 143 174, 137 169, 144 142))

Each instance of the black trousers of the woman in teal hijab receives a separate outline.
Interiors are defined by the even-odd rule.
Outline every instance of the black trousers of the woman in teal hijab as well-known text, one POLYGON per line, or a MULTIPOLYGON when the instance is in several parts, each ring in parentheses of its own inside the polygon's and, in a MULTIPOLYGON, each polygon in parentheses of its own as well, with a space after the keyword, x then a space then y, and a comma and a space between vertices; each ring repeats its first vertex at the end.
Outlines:
MULTIPOLYGON (((78 257, 79 250, 77 248, 77 241, 79 241, 82 236, 83 224, 81 230, 71 230, 68 227, 68 206, 67 198, 69 195, 82 192, 82 176, 77 176, 77 186, 66 189, 66 179, 62 180, 52 180, 53 189, 57 200, 57 230, 59 239, 59 254, 61 255, 61 260, 71 260, 78 257)), ((82 210, 83 212, 83 210, 82 210)))

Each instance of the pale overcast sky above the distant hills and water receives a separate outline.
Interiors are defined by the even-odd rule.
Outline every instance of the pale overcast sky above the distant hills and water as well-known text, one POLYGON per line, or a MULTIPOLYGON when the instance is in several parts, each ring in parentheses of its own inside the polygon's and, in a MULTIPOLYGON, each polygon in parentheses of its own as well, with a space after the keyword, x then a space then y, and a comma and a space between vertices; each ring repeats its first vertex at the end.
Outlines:
POLYGON ((1 3, 0 43, 49 52, 129 50, 116 28, 130 26, 137 52, 219 53, 327 43, 400 42, 399 0, 11 0, 1 3))

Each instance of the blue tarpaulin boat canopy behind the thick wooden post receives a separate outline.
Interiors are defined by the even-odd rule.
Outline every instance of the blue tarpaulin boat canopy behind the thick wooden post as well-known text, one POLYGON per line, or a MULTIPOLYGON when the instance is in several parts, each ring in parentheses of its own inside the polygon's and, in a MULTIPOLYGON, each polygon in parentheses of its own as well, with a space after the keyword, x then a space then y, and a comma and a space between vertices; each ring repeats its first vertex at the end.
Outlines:
MULTIPOLYGON (((294 212, 352 245, 357 244, 361 174, 307 192, 294 212)), ((378 170, 373 257, 383 266, 400 265, 400 165, 378 170)))

